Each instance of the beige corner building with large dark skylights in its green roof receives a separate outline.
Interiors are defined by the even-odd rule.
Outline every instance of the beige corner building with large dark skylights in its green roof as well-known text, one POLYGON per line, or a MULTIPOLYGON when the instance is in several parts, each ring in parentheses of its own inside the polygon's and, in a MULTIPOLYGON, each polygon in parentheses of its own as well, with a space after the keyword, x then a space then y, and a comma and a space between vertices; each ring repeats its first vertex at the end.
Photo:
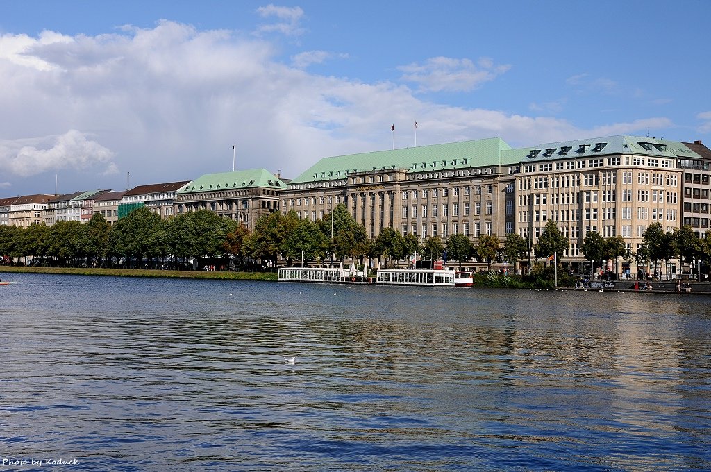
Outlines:
POLYGON ((665 232, 680 227, 680 154, 696 156, 680 144, 624 135, 529 148, 516 175, 516 229, 535 242, 555 221, 570 242, 562 261, 586 273, 604 267, 632 274, 634 263, 587 262, 579 247, 590 232, 620 235, 631 254, 651 223, 665 232))

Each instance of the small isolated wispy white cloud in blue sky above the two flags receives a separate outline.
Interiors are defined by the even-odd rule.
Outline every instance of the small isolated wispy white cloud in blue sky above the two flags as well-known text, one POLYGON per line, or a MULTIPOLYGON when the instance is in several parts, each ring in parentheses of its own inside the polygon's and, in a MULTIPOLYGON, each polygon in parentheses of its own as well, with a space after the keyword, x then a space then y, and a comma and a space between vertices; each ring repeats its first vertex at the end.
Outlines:
POLYGON ((397 68, 401 80, 415 82, 422 91, 469 92, 483 82, 493 80, 510 69, 510 65, 495 65, 489 58, 481 58, 478 64, 470 59, 429 58, 424 64, 412 63, 397 68))

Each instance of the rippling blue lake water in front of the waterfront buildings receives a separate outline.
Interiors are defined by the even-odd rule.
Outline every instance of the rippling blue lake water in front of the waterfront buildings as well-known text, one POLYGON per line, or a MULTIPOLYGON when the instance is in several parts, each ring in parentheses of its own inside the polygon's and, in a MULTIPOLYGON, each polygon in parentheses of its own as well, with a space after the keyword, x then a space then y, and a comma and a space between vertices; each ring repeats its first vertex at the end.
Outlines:
POLYGON ((705 296, 2 278, 0 471, 711 468, 705 296))

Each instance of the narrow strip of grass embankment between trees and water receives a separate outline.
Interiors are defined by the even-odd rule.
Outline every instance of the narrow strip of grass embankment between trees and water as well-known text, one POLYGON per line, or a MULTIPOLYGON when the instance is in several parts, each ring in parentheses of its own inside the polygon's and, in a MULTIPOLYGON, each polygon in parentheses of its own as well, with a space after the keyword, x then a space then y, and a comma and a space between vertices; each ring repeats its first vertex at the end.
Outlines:
POLYGON ((28 274, 110 275, 114 277, 168 277, 173 279, 220 279, 276 281, 274 272, 206 272, 200 270, 94 269, 90 267, 0 266, 0 272, 28 274))

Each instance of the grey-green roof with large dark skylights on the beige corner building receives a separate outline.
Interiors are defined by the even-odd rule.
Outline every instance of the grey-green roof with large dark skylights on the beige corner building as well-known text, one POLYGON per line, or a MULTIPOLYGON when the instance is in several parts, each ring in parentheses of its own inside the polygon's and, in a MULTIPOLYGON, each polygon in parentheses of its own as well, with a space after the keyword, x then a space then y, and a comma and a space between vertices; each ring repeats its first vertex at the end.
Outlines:
POLYGON ((676 141, 663 139, 627 136, 606 136, 602 138, 576 139, 574 141, 561 141, 545 143, 538 146, 517 149, 523 151, 520 161, 552 161, 559 159, 587 159, 610 154, 642 154, 676 159, 677 156, 697 156, 688 147, 676 141))

